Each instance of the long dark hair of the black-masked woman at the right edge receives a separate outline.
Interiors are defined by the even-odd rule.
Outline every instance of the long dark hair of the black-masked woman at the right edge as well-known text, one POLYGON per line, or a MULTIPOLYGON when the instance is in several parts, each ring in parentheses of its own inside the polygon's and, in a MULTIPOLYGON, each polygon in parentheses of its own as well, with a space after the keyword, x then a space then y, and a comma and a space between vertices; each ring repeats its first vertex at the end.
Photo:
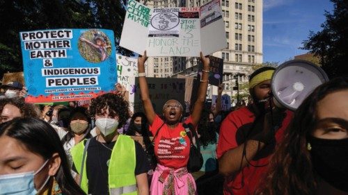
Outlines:
POLYGON ((320 85, 301 103, 271 159, 262 188, 255 194, 315 194, 318 180, 307 149, 307 137, 317 124, 317 103, 340 90, 348 90, 348 78, 334 78, 320 85))

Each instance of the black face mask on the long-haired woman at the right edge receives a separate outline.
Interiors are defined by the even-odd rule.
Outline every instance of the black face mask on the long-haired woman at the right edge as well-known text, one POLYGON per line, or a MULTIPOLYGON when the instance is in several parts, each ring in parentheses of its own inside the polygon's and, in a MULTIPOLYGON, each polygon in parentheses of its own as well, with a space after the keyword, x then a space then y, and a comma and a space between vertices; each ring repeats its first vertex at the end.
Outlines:
POLYGON ((333 187, 348 192, 348 138, 308 137, 313 168, 333 187))

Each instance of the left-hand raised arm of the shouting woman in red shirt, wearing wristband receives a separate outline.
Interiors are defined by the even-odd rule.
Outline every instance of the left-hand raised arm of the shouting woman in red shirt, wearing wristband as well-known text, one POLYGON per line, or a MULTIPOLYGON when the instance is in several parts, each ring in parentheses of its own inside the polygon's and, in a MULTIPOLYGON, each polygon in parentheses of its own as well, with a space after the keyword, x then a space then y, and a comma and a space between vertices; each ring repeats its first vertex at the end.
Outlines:
POLYGON ((139 74, 143 74, 143 76, 140 75, 138 78, 139 78, 141 101, 143 101, 145 115, 148 118, 149 123, 152 124, 152 122, 155 119, 156 113, 152 107, 152 103, 151 103, 150 95, 149 95, 148 82, 146 81, 146 77, 145 77, 145 61, 147 59, 148 57, 146 56, 146 51, 144 51, 143 56, 139 56, 138 58, 138 72, 139 74))

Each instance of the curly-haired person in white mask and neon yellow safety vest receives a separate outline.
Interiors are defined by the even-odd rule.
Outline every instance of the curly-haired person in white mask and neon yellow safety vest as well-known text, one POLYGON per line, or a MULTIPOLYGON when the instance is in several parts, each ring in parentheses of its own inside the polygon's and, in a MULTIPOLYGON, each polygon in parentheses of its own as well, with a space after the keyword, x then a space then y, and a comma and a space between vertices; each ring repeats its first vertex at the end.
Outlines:
POLYGON ((129 118, 128 103, 117 94, 92 99, 89 114, 95 117, 97 136, 72 148, 72 171, 87 194, 148 195, 150 169, 141 144, 117 129, 129 118))

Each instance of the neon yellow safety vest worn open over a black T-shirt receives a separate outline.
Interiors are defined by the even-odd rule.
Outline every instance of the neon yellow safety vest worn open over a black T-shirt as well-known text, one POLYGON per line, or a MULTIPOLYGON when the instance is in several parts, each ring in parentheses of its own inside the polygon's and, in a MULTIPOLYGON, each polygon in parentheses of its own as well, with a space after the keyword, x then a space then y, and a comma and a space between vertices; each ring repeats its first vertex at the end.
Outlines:
MULTIPOLYGON (((81 177, 79 185, 88 194, 88 178, 86 176, 87 150, 85 151, 85 141, 86 139, 74 146, 71 154, 77 172, 81 177), (81 169, 83 169, 82 173, 80 173, 81 169)), ((134 175, 135 166, 136 153, 134 140, 127 135, 118 135, 116 144, 113 146, 111 152, 108 170, 109 193, 111 195, 137 194, 136 178, 134 175)))

